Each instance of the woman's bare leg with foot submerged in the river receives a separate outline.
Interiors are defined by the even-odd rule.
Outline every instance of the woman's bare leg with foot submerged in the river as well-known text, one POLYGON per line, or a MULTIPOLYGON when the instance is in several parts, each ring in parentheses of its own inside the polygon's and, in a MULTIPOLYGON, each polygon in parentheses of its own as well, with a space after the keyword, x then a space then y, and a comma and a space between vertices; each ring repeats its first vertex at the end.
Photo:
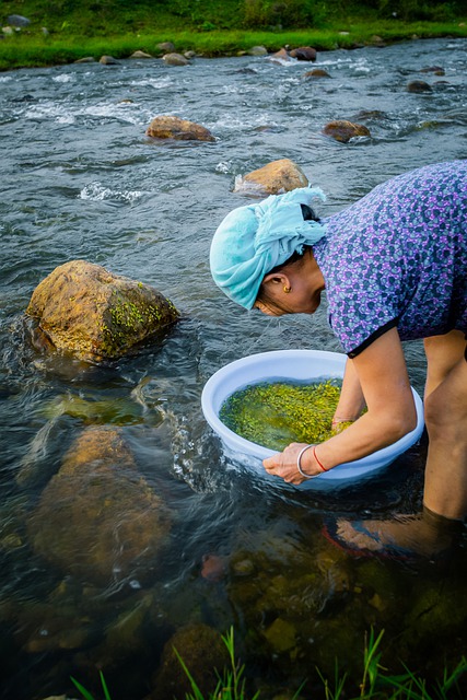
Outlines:
POLYGON ((450 524, 467 517, 466 338, 455 330, 428 338, 424 347, 429 448, 423 513, 394 521, 364 521, 364 527, 339 521, 338 537, 355 549, 375 551, 396 545, 431 555, 451 542, 450 524))

